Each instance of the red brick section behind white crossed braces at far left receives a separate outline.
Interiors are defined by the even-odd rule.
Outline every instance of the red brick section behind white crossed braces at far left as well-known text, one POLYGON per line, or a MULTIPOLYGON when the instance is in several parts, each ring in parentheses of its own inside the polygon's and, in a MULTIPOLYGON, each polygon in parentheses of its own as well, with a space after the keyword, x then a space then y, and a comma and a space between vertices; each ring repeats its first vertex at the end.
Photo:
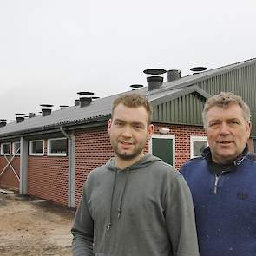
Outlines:
MULTIPOLYGON (((12 158, 12 155, 7 156, 7 158, 12 158)), ((10 162, 11 166, 15 169, 17 176, 20 175, 20 157, 15 156, 13 160, 10 162)), ((3 172, 3 168, 7 165, 7 161, 4 156, 0 156, 0 174, 3 172)), ((13 173, 10 165, 5 169, 3 174, 0 176, 0 185, 3 187, 13 187, 18 189, 19 188, 19 181, 16 178, 16 175, 13 173)))

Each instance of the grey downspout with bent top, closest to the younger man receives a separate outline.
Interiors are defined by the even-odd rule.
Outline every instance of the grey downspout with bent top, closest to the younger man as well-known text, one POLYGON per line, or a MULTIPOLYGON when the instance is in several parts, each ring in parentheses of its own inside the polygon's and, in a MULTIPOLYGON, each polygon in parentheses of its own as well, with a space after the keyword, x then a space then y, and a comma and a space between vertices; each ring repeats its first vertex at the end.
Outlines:
POLYGON ((68 207, 75 207, 75 136, 72 132, 71 135, 68 135, 66 131, 60 127, 62 134, 69 140, 69 201, 68 207))

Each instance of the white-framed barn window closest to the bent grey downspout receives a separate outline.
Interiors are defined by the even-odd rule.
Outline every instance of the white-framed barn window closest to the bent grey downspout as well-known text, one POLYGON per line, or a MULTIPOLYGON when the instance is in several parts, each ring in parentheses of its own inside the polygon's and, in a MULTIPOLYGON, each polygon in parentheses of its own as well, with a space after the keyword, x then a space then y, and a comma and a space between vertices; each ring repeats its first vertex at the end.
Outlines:
POLYGON ((68 152, 67 138, 55 138, 48 140, 48 155, 66 156, 68 152))

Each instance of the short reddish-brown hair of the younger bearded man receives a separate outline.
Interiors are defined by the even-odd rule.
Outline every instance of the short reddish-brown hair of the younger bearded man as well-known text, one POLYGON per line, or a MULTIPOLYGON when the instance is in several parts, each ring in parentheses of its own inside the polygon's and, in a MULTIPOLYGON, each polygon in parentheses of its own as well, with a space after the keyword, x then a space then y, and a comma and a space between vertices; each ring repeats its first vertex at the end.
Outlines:
POLYGON ((119 104, 123 104, 125 107, 128 107, 128 108, 138 108, 141 106, 144 107, 148 113, 148 124, 151 123, 153 111, 150 103, 148 102, 148 99, 145 96, 132 93, 127 95, 121 95, 120 97, 116 98, 112 106, 112 112, 111 112, 112 116, 114 114, 115 108, 119 104))

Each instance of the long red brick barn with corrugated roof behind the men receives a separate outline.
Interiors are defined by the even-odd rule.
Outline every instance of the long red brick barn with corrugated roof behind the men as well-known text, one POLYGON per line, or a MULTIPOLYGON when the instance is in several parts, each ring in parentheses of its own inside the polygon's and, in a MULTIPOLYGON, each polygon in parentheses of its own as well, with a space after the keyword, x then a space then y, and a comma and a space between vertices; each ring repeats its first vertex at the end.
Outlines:
MULTIPOLYGON (((154 135, 146 151, 178 170, 207 146, 201 112, 207 98, 220 91, 241 95, 250 106, 253 130, 248 144, 250 151, 256 151, 256 59, 195 70, 184 77, 179 70, 168 70, 164 82, 165 70, 148 69, 148 86, 135 89, 154 107, 154 135)), ((119 95, 81 96, 69 108, 51 111, 44 106, 41 115, 17 115, 9 123, 1 120, 0 186, 77 207, 89 172, 114 155, 107 123, 119 95)))

